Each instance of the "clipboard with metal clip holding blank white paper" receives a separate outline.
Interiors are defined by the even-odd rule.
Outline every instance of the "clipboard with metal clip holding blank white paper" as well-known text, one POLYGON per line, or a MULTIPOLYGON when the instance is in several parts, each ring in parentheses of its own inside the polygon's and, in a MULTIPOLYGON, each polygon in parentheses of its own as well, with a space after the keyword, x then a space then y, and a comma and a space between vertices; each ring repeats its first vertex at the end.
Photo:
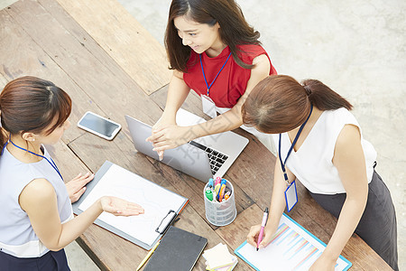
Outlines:
POLYGON ((88 182, 86 192, 78 201, 72 204, 73 212, 76 215, 82 213, 87 206, 103 195, 112 195, 124 198, 127 201, 134 201, 141 206, 144 205, 145 212, 147 212, 148 208, 147 215, 143 214, 128 218, 115 217, 104 212, 94 222, 98 226, 147 250, 151 249, 160 240, 165 231, 171 226, 173 220, 189 202, 187 198, 175 192, 171 192, 154 182, 106 161, 95 174, 93 181, 88 182), (111 177, 117 173, 123 174, 125 178, 111 177), (142 199, 147 194, 146 192, 152 192, 153 195, 157 196, 148 197, 148 199, 145 196, 143 202, 142 199), (171 202, 163 202, 164 199, 171 199, 171 202), (171 208, 168 207, 170 205, 171 208), (137 231, 137 227, 140 232, 137 231))

